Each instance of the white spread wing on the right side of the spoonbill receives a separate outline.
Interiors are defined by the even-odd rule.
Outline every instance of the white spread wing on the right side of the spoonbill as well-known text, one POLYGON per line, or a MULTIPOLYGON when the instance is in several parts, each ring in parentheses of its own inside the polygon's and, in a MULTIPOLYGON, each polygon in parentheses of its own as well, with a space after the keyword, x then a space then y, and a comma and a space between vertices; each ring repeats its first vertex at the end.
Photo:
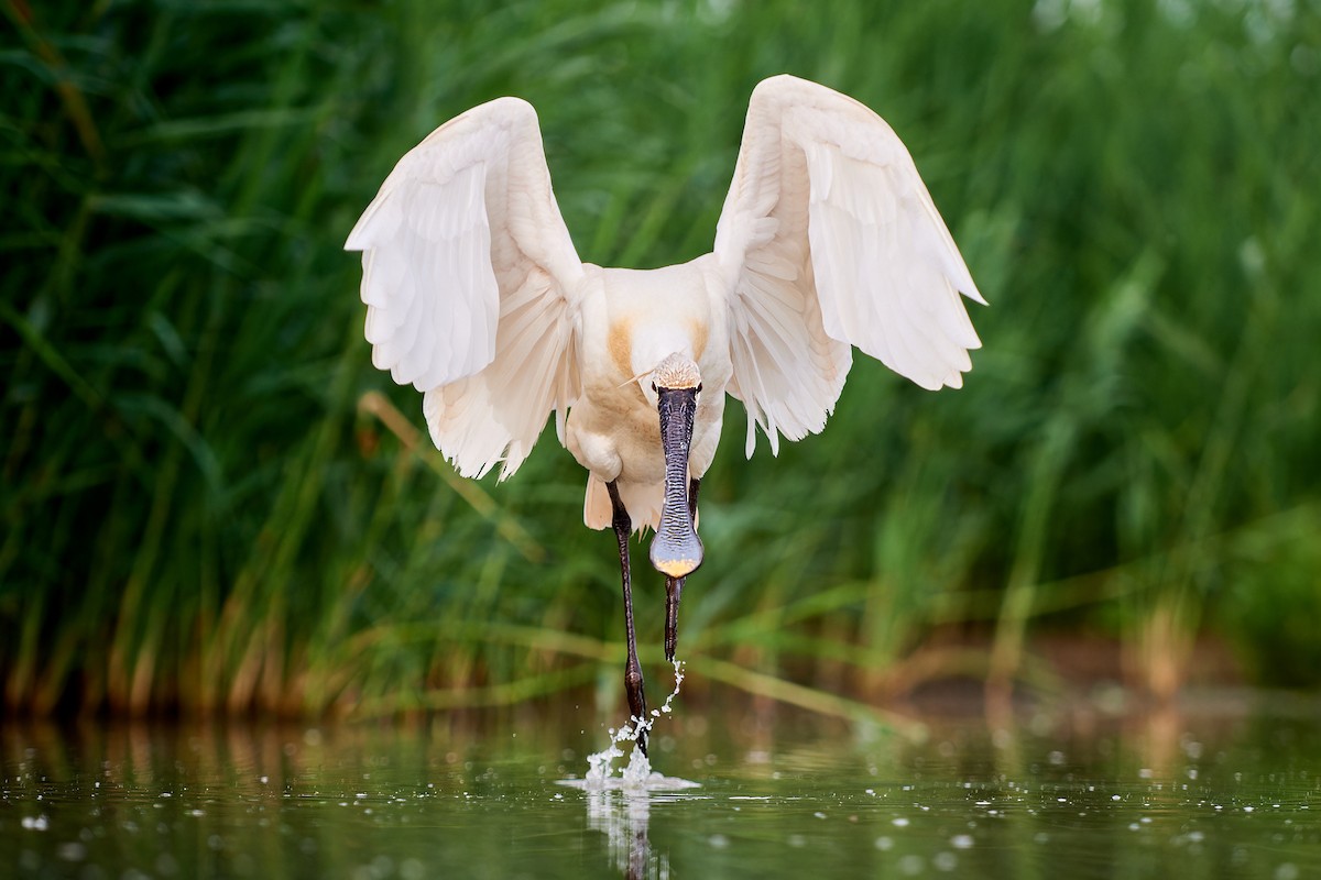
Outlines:
POLYGON ((851 347, 918 385, 959 388, 980 347, 972 284, 908 149, 859 102, 803 79, 752 94, 716 231, 731 290, 731 393, 801 439, 826 425, 851 347))

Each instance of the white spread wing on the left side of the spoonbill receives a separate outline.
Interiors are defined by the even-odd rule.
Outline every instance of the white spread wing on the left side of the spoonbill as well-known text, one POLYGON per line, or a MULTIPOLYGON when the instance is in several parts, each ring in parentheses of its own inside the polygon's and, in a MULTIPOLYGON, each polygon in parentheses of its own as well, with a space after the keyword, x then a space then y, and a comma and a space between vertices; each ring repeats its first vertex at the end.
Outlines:
POLYGON ((460 474, 509 476, 579 396, 583 264, 560 216, 531 104, 501 98, 411 149, 345 244, 362 251, 371 360, 425 392, 460 474))

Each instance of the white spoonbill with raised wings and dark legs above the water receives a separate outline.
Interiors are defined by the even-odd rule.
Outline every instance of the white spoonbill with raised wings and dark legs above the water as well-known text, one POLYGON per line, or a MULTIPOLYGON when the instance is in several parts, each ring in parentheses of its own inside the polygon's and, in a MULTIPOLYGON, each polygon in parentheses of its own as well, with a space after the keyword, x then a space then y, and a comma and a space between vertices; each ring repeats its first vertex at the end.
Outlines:
MULTIPOLYGON (((629 534, 651 526, 674 660, 684 578, 701 565, 697 488, 725 394, 778 453, 826 426, 852 346, 922 388, 959 388, 985 302, 908 149, 861 103, 761 82, 711 253, 635 270, 579 259, 532 107, 499 98, 410 150, 345 244, 362 251, 373 363, 425 394, 464 476, 513 475, 555 413, 588 470, 584 520, 613 526, 629 710, 646 719, 629 534)), ((638 744, 646 751, 645 726, 638 744)))

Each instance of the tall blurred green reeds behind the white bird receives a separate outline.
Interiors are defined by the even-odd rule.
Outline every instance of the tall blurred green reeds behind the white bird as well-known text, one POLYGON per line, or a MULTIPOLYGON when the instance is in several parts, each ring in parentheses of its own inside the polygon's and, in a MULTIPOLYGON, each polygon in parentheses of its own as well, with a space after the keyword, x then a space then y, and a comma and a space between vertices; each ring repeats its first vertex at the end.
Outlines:
POLYGON ((860 358, 823 435, 750 462, 731 408, 694 669, 1008 686, 1063 632, 1159 695, 1199 637, 1317 683, 1316 0, 0 5, 12 711, 618 699, 583 472, 553 433, 499 486, 417 443, 339 248, 400 154, 515 94, 584 259, 691 259, 781 71, 890 121, 992 307, 964 391, 860 358))

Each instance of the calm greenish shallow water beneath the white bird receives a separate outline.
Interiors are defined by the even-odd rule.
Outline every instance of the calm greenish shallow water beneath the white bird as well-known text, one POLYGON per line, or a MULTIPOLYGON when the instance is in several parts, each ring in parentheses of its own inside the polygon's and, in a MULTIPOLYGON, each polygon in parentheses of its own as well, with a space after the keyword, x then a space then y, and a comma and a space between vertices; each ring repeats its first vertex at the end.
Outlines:
POLYGON ((604 722, 7 724, 0 873, 1321 876, 1312 710, 927 719, 918 740, 678 711, 653 764, 696 785, 666 790, 584 785, 604 722))

